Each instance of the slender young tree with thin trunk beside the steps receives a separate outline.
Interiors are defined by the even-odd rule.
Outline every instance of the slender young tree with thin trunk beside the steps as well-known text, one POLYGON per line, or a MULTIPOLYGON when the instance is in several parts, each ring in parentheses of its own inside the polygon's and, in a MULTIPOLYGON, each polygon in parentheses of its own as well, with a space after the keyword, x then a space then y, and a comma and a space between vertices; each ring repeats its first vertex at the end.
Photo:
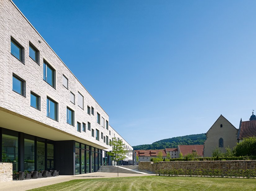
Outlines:
POLYGON ((124 144, 122 139, 119 139, 118 141, 116 138, 113 138, 113 141, 111 141, 111 146, 113 148, 113 151, 107 153, 111 156, 113 160, 117 162, 117 176, 119 176, 118 162, 126 158, 125 154, 127 151, 124 150, 124 144))

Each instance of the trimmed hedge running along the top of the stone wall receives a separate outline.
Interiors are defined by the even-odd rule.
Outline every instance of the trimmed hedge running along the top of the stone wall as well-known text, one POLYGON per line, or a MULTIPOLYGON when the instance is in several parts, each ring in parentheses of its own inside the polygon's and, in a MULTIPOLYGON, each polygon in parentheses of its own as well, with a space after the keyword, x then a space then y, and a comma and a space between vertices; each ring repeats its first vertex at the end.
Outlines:
MULTIPOLYGON (((210 161, 217 160, 217 157, 203 157, 203 158, 194 158, 188 159, 189 161, 210 161)), ((256 160, 256 156, 239 156, 239 157, 219 157, 219 160, 256 160)), ((186 161, 186 159, 170 159, 170 161, 186 161)))

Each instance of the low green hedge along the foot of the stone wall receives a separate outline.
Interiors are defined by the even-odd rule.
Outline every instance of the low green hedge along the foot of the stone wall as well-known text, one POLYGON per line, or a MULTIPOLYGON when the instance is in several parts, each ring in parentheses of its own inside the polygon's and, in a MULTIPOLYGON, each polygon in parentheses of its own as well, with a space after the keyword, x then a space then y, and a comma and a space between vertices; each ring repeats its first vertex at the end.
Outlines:
POLYGON ((156 175, 159 176, 206 176, 206 177, 226 177, 226 178, 255 178, 256 169, 242 170, 242 169, 160 169, 157 170, 156 175))

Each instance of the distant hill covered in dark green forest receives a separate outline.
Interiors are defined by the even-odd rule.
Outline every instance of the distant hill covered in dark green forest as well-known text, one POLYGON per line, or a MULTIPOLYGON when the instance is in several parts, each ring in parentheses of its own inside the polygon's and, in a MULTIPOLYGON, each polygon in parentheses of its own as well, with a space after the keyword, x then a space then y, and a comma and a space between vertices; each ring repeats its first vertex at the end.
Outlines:
POLYGON ((133 150, 177 148, 178 145, 203 145, 205 140, 206 135, 204 133, 185 135, 181 137, 162 139, 160 141, 153 142, 152 144, 133 146, 133 150))

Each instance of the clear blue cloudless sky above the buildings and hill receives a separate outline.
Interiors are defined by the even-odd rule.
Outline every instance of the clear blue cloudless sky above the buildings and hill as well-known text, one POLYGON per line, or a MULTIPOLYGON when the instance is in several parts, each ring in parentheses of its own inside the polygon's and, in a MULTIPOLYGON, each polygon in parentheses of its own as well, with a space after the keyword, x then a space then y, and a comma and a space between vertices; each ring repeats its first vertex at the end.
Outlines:
POLYGON ((14 2, 132 146, 256 110, 256 1, 14 2))

